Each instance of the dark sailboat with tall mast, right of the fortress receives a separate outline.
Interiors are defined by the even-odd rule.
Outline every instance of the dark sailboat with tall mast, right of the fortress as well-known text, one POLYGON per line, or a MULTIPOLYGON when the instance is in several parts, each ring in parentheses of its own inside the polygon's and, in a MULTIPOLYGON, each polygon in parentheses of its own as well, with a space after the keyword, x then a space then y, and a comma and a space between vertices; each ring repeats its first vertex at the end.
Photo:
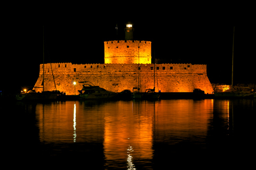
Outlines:
POLYGON ((237 91, 234 90, 233 86, 233 63, 234 63, 234 37, 235 37, 235 27, 233 31, 233 52, 232 52, 232 79, 231 79, 231 91, 229 92, 214 92, 214 97, 215 98, 253 98, 254 94, 253 91, 237 91))

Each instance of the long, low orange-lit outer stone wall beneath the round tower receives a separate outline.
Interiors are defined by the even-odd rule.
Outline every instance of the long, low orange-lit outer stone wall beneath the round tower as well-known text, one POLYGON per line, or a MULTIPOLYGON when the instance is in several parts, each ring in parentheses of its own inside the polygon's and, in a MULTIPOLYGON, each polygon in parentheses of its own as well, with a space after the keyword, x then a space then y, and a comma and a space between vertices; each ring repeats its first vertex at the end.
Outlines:
MULTIPOLYGON (((213 88, 206 74, 206 65, 193 64, 72 64, 51 63, 57 90, 67 95, 75 94, 73 82, 90 81, 106 90, 121 92, 133 87, 141 91, 154 88, 161 92, 193 92, 195 88, 211 94, 213 88)), ((45 64, 45 91, 55 90, 51 65, 45 64)), ((43 64, 40 65, 39 78, 35 87, 42 87, 43 64)), ((34 88, 41 91, 42 88, 34 88)), ((82 83, 76 85, 82 89, 82 83)))

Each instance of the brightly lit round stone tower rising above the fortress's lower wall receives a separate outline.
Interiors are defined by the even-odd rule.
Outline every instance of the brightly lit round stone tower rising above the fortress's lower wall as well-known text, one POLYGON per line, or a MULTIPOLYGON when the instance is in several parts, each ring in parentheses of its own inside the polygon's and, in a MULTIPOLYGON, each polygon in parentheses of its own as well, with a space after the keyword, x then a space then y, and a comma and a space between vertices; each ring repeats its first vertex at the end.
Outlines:
POLYGON ((119 40, 105 41, 105 63, 107 64, 150 64, 151 42, 119 40))

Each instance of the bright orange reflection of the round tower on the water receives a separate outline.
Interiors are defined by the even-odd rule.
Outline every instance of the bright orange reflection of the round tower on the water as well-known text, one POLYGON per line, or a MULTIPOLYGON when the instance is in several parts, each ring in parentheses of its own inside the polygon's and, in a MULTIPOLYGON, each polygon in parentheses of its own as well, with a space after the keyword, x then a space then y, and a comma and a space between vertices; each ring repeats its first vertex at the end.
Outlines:
POLYGON ((127 159, 127 146, 133 148, 133 160, 143 160, 150 164, 153 158, 154 103, 146 103, 118 101, 111 109, 105 109, 103 146, 107 166, 116 164, 118 167, 124 163, 127 159))

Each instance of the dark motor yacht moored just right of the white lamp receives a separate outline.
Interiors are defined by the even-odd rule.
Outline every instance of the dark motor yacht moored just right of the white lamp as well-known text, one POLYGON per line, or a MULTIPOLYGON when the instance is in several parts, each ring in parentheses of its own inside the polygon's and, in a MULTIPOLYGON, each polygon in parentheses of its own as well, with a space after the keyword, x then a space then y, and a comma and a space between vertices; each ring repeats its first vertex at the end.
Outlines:
POLYGON ((79 99, 94 100, 94 99, 115 99, 117 93, 108 91, 99 86, 92 86, 91 84, 83 84, 82 90, 78 90, 79 99))

